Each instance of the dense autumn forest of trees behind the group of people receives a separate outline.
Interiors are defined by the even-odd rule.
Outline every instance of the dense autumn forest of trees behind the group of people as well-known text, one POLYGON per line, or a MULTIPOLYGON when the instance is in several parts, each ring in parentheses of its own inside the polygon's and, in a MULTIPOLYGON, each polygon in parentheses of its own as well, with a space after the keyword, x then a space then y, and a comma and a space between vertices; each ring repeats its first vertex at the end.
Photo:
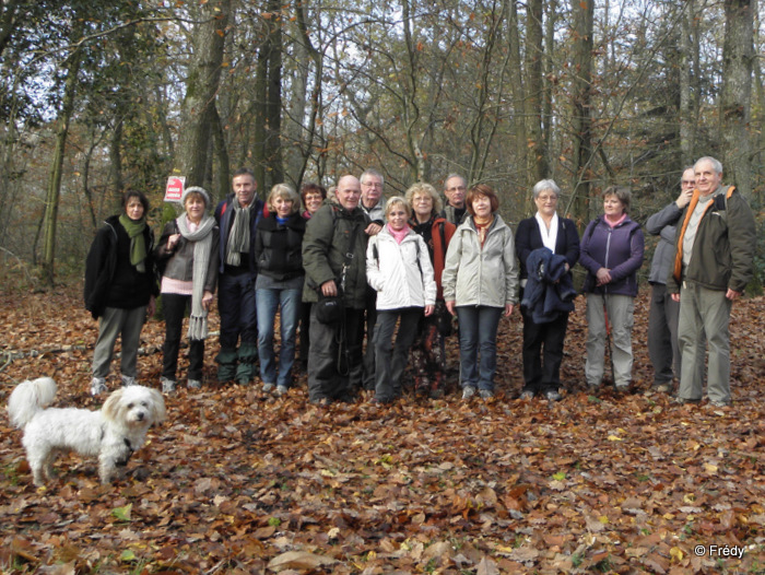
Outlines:
POLYGON ((79 277, 122 190, 145 191, 158 225, 168 176, 220 199, 239 166, 261 191, 375 167, 388 196, 457 172, 513 223, 553 177, 584 225, 610 184, 645 221, 709 154, 762 231, 762 15, 756 0, 2 0, 3 274, 79 277))

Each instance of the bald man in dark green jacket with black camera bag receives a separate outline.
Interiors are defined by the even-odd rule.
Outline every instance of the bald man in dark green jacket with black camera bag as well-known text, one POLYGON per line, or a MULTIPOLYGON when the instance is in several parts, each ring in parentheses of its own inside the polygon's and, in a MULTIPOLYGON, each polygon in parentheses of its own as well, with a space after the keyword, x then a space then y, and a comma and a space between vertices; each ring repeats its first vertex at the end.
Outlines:
POLYGON ((344 313, 322 324, 318 306, 310 312, 308 396, 311 403, 348 401, 362 379, 362 342, 355 335, 364 317, 366 244, 369 218, 360 208, 361 183, 354 176, 338 180, 337 203, 327 201, 308 220, 303 239, 306 271, 303 301, 340 295, 344 313), (350 337, 349 337, 350 336, 350 337))

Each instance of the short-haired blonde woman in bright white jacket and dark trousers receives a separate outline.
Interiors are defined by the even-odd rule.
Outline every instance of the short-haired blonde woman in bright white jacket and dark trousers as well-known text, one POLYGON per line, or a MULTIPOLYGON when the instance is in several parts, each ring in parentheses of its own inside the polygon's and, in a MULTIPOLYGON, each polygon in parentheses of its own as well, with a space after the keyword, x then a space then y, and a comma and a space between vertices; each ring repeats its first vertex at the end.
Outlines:
POLYGON ((388 223, 369 239, 366 250, 366 280, 377 291, 373 399, 377 403, 389 403, 401 396, 401 376, 417 322, 423 313, 433 314, 436 303, 433 265, 422 237, 409 227, 411 214, 403 198, 390 198, 385 209, 388 223))

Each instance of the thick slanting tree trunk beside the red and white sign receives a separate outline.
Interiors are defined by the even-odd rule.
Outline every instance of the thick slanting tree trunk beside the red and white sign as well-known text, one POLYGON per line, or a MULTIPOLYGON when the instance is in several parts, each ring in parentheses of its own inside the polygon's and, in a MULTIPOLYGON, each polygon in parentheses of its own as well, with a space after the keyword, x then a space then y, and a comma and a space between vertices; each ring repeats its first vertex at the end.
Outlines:
POLYGON ((210 139, 213 106, 221 80, 223 47, 232 0, 210 0, 200 4, 200 20, 193 34, 193 56, 189 66, 186 97, 181 108, 183 137, 178 142, 176 167, 187 186, 201 186, 209 178, 210 139))

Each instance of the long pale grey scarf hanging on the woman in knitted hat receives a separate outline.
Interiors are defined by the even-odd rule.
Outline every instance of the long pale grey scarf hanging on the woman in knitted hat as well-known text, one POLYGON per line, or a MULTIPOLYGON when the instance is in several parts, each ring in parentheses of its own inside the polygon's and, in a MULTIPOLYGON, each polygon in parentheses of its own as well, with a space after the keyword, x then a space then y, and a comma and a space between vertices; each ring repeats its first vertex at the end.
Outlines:
POLYGON ((202 221, 196 231, 189 228, 186 214, 177 220, 180 235, 188 242, 193 242, 193 275, 191 286, 191 316, 189 317, 188 337, 193 340, 203 340, 208 337, 208 310, 202 307, 204 296, 204 282, 210 267, 210 251, 212 250, 212 228, 215 219, 209 214, 202 215, 202 221))

